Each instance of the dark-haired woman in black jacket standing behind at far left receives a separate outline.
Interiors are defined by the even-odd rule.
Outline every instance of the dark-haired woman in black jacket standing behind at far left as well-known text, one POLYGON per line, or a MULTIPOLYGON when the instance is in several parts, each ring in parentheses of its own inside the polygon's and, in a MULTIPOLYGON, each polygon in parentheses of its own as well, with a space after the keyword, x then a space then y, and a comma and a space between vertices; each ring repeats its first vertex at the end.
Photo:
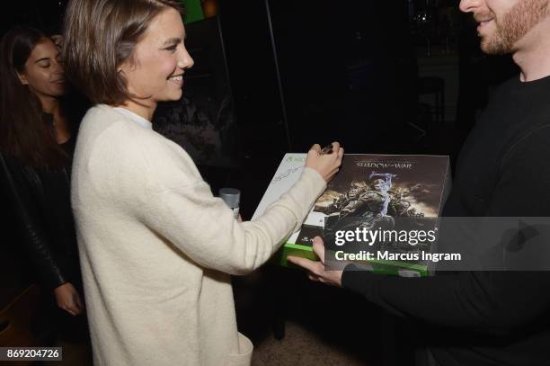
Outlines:
POLYGON ((50 345, 73 338, 71 316, 84 311, 69 193, 75 130, 60 105, 66 82, 54 42, 19 26, 0 47, 0 174, 20 234, 5 245, 20 245, 31 263, 41 288, 33 326, 50 345))

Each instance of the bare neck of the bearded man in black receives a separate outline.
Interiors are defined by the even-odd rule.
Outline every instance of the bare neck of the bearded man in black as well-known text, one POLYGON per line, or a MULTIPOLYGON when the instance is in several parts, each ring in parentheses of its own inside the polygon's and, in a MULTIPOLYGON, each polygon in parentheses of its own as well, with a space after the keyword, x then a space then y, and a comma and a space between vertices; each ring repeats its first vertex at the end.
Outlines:
POLYGON ((529 82, 550 76, 550 19, 546 18, 520 40, 512 58, 521 69, 520 80, 529 82))

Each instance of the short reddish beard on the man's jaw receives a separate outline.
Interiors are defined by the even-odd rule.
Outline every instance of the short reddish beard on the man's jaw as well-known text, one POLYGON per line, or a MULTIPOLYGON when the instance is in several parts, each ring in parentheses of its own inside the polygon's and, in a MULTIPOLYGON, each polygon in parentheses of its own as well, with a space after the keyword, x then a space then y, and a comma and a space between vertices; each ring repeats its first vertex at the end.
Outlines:
POLYGON ((548 0, 519 0, 501 20, 492 12, 477 13, 480 22, 494 18, 496 32, 481 41, 481 49, 490 55, 501 55, 514 51, 514 45, 548 15, 548 0))

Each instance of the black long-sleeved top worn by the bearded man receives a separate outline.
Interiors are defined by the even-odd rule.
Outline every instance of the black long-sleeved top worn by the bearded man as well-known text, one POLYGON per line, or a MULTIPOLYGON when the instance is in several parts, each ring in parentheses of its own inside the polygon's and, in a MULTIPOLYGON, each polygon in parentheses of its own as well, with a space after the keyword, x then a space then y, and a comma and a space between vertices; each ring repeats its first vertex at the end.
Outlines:
MULTIPOLYGON (((501 86, 457 162, 453 217, 550 216, 550 76, 501 86)), ((440 365, 550 364, 550 272, 401 278, 344 271, 342 285, 429 328, 440 365)))

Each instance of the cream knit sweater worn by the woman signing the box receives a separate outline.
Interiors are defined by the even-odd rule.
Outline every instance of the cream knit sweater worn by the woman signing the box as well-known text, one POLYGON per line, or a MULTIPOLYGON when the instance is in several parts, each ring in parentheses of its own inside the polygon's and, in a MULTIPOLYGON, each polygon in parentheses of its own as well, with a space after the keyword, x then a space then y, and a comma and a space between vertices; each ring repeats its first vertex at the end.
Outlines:
POLYGON ((261 218, 239 224, 181 147, 98 105, 82 122, 72 183, 94 364, 248 365, 229 274, 270 258, 323 178, 306 168, 261 218))

